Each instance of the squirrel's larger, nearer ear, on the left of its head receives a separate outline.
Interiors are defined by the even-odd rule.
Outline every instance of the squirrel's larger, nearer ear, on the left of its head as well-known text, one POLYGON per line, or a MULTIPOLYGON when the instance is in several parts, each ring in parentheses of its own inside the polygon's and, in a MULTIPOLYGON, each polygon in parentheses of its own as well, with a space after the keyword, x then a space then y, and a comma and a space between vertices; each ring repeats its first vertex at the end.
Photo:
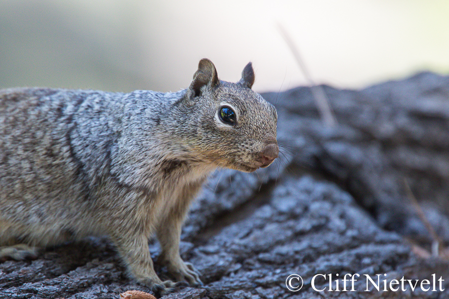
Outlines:
POLYGON ((215 65, 207 58, 201 59, 198 64, 198 70, 195 72, 193 81, 190 84, 192 96, 198 97, 206 90, 212 90, 219 84, 220 80, 215 65))

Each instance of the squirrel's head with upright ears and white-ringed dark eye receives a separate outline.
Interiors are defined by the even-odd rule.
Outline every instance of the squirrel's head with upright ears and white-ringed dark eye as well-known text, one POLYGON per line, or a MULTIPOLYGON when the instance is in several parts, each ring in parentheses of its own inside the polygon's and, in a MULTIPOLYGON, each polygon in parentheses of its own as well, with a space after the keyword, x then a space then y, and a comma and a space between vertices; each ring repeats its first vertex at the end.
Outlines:
POLYGON ((251 90, 253 83, 251 63, 240 81, 229 83, 219 80, 212 61, 200 61, 182 101, 194 125, 186 140, 191 149, 218 166, 245 172, 273 162, 279 153, 276 109, 251 90))

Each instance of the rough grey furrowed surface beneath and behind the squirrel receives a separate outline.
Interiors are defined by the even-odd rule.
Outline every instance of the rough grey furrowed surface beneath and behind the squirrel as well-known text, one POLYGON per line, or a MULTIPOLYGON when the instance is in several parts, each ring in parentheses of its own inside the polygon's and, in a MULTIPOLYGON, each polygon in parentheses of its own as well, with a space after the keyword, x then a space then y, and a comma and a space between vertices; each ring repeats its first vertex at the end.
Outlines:
MULTIPOLYGON (((443 252, 449 243, 449 77, 422 73, 361 91, 324 90, 334 128, 321 124, 310 88, 263 95, 278 109, 280 159, 255 173, 221 170, 211 177, 181 244, 205 286, 165 299, 449 298, 448 257, 428 254, 436 237, 419 216, 421 207, 443 252), (290 274, 302 277, 301 290, 286 288, 290 274), (331 274, 333 281, 360 277, 355 292, 338 292, 329 291, 328 276, 319 276, 315 289, 327 289, 317 292, 317 274, 331 274), (418 285, 412 292, 406 282, 404 292, 382 292, 383 280, 415 283, 432 274, 444 279, 444 291, 418 285), (363 275, 376 282, 380 275, 381 292, 372 284, 365 291, 363 275)), ((156 242, 149 248, 157 257, 156 242)), ((168 278, 163 265, 156 268, 168 278)), ((0 299, 147 291, 123 271, 108 240, 92 237, 47 249, 33 261, 1 263, 0 299)))

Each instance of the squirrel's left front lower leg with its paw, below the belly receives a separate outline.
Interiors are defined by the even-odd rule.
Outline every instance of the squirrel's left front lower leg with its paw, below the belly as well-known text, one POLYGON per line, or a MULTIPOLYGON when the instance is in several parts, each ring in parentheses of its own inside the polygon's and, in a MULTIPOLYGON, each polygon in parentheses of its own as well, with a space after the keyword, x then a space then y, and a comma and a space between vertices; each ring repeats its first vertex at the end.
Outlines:
POLYGON ((117 250, 126 263, 129 274, 136 281, 151 289, 155 294, 165 295, 178 287, 172 281, 162 282, 154 271, 153 261, 145 235, 112 236, 117 250))

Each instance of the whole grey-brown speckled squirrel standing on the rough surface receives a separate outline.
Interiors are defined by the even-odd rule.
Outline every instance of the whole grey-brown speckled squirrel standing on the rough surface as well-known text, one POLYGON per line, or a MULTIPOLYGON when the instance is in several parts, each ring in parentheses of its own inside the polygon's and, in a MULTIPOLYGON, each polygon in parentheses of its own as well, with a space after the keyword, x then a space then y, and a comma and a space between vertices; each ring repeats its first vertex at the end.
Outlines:
POLYGON ((0 90, 0 257, 108 235, 129 274, 164 294, 148 239, 176 281, 201 284, 179 254, 181 227, 217 167, 251 172, 278 156, 276 109, 202 59, 175 93, 0 90))

